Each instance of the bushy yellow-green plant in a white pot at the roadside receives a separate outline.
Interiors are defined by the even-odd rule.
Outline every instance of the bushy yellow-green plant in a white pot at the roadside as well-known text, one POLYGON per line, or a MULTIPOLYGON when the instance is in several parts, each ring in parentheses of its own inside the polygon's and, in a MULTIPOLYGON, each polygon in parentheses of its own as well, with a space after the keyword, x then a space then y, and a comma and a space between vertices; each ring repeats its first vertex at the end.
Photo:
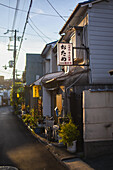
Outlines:
POLYGON ((61 126, 59 130, 59 136, 61 137, 61 142, 67 144, 67 150, 74 153, 76 151, 76 141, 78 139, 80 132, 78 127, 70 119, 69 123, 65 123, 61 126))

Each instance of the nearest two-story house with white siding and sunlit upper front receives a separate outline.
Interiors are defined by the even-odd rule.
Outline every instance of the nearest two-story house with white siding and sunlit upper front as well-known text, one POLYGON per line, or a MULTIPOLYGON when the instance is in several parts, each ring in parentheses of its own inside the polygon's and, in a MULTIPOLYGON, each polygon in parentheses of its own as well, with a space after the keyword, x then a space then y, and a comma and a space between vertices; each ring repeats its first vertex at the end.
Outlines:
MULTIPOLYGON (((74 63, 64 66, 64 74, 49 77, 44 83, 48 89, 64 87, 61 91, 63 111, 65 114, 71 112, 73 120, 79 125, 83 141, 83 91, 113 89, 113 78, 109 74, 109 70, 113 69, 113 1, 88 0, 79 3, 60 35, 62 37, 58 43, 73 44, 74 63)), ((56 46, 53 51, 57 51, 56 46)), ((86 146, 87 143, 88 140, 86 146)), ((98 142, 92 146, 97 148, 98 142)))

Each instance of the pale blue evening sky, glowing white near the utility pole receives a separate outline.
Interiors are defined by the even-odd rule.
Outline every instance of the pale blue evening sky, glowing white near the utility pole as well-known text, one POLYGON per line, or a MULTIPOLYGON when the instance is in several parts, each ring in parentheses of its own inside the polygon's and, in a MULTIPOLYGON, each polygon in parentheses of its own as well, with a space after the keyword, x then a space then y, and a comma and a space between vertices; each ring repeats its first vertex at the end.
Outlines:
MULTIPOLYGON (((13 60, 14 41, 9 37, 14 37, 11 30, 17 30, 17 37, 22 37, 26 23, 27 12, 31 0, 0 0, 0 75, 5 79, 12 78, 12 68, 8 62, 13 60), (15 10, 15 8, 19 10, 15 10), (7 30, 10 30, 7 32, 7 30), (6 34, 4 34, 6 33, 6 34), (10 51, 8 45, 10 44, 10 51)), ((41 54, 47 43, 56 41, 60 38, 59 31, 69 18, 74 8, 79 2, 84 0, 33 0, 28 23, 26 25, 20 51, 20 41, 17 41, 16 61, 17 74, 20 75, 25 69, 26 53, 41 54), (58 13, 52 8, 52 6, 58 13)))

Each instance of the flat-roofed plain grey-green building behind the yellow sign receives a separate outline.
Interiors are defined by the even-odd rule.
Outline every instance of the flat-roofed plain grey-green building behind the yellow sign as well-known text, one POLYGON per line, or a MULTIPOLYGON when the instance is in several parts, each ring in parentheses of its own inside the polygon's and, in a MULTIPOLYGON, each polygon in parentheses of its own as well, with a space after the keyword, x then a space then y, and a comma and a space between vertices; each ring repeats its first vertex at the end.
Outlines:
POLYGON ((32 89, 30 85, 43 75, 42 57, 40 54, 26 54, 26 70, 24 79, 26 80, 25 104, 33 105, 32 89))

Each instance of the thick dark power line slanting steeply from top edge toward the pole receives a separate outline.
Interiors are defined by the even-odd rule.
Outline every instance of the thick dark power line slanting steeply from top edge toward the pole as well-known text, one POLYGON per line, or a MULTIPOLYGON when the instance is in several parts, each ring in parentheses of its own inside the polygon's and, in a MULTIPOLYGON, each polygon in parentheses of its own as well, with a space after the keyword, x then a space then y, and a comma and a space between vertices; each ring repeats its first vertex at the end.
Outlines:
POLYGON ((22 42, 23 42, 23 38, 24 38, 24 34, 25 34, 27 23, 28 23, 28 18, 29 18, 30 10, 31 10, 31 6, 32 6, 32 0, 30 1, 29 9, 28 9, 28 12, 27 12, 26 22, 25 22, 23 34, 22 34, 22 37, 21 37, 21 41, 20 41, 20 46, 19 46, 17 58, 19 56, 20 49, 21 49, 21 46, 22 46, 22 42))

